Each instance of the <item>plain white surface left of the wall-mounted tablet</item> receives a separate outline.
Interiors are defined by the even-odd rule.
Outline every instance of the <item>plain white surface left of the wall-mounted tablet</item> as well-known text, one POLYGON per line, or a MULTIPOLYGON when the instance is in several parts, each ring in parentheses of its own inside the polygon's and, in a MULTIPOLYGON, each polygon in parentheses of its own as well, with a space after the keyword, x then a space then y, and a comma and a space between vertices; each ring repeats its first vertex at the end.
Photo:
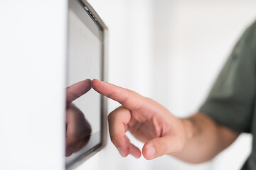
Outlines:
POLYGON ((0 1, 0 169, 64 168, 67 1, 0 1))

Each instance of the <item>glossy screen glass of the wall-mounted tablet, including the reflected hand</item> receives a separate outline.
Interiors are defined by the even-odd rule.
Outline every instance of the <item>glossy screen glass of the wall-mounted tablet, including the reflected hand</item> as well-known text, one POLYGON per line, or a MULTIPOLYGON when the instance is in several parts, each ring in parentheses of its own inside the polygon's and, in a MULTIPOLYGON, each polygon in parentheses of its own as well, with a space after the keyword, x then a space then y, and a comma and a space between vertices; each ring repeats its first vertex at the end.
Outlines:
POLYGON ((81 8, 79 1, 70 2, 68 15, 68 89, 83 93, 82 96, 75 94, 70 105, 67 101, 66 121, 70 116, 74 124, 70 127, 75 132, 67 124, 66 162, 72 162, 100 142, 101 97, 90 90, 90 79, 102 79, 102 30, 81 8), (87 87, 89 91, 79 91, 87 87), (69 140, 68 134, 76 137, 69 140))

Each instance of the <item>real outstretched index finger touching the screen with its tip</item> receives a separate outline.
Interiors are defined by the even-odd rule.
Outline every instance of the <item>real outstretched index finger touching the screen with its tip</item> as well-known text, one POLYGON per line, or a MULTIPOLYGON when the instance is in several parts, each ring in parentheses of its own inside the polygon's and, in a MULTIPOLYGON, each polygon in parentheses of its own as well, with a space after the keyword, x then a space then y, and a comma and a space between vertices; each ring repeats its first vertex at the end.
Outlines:
POLYGON ((134 91, 97 79, 92 80, 92 88, 103 96, 121 103, 125 108, 137 110, 142 106, 143 97, 134 91))

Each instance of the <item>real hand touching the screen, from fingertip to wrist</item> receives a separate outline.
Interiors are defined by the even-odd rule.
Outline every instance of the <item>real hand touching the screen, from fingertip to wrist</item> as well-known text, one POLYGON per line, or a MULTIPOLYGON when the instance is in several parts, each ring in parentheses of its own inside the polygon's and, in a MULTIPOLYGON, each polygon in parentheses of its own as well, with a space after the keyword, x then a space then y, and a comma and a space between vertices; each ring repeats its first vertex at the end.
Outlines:
POLYGON ((128 154, 141 157, 139 148, 125 135, 127 130, 145 143, 142 154, 148 160, 183 149, 186 141, 183 122, 159 103, 97 79, 92 81, 92 88, 122 105, 108 116, 111 140, 122 157, 128 154))

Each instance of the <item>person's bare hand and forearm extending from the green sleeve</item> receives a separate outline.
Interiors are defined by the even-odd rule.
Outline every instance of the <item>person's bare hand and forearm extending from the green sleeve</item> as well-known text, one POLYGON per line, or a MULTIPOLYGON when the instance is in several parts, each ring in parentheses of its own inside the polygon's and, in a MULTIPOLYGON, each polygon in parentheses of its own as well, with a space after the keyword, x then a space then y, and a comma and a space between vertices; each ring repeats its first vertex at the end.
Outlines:
POLYGON ((128 154, 141 157, 140 149, 125 135, 127 130, 144 142, 145 159, 170 154, 195 164, 212 159, 238 137, 238 133, 202 113, 180 119, 164 106, 134 91, 97 79, 92 81, 92 88, 122 105, 108 117, 111 140, 122 157, 128 154))

